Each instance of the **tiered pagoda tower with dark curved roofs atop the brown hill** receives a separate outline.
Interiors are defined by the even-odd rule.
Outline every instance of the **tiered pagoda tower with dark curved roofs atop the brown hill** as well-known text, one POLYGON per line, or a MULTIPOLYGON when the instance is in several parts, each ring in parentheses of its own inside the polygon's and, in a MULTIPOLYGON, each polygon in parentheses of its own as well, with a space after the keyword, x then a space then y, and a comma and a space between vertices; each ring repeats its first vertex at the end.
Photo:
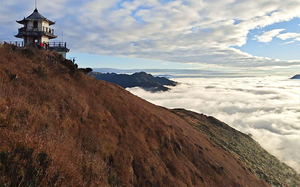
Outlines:
POLYGON ((30 16, 16 22, 23 25, 23 27, 19 28, 18 34, 15 35, 15 37, 23 39, 22 46, 38 46, 41 42, 45 42, 48 44, 50 51, 62 54, 64 58, 66 57, 66 53, 70 51, 66 48, 66 43, 49 42, 50 39, 57 38, 54 35, 54 29, 49 27, 56 22, 42 16, 37 8, 30 16))

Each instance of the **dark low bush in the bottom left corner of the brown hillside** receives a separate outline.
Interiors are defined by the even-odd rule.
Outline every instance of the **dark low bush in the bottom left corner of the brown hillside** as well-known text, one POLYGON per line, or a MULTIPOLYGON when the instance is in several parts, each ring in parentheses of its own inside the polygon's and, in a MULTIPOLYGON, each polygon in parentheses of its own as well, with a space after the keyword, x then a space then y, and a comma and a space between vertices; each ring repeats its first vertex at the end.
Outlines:
POLYGON ((45 152, 35 156, 34 149, 16 147, 11 152, 0 153, 0 186, 39 186, 43 182, 53 186, 59 172, 53 176, 47 172, 51 158, 45 152))

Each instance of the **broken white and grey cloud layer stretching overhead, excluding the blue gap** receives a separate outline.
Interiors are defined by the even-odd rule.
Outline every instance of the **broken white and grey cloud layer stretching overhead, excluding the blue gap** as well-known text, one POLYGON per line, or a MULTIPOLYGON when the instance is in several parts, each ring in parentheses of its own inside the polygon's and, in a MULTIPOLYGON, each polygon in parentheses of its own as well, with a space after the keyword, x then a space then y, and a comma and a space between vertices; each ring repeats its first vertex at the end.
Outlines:
MULTIPOLYGON (((1 3, 2 40, 15 40, 13 34, 20 27, 15 19, 31 14, 33 6, 31 0, 1 3)), ((232 48, 246 44, 251 29, 300 17, 298 0, 55 0, 39 1, 38 9, 57 21, 55 33, 60 35, 63 30, 73 52, 199 66, 300 64, 298 59, 256 57, 232 48)))

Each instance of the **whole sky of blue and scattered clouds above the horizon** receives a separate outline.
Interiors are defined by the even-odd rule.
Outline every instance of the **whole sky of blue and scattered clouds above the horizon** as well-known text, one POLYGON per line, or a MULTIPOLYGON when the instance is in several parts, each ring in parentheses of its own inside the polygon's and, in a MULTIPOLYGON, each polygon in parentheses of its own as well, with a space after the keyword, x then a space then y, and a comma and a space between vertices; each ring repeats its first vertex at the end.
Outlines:
MULTIPOLYGON (((32 0, 1 1, 0 40, 14 38, 32 0), (13 13, 13 14, 12 14, 13 13)), ((298 0, 53 0, 56 24, 81 67, 196 68, 245 74, 299 72, 298 0)))

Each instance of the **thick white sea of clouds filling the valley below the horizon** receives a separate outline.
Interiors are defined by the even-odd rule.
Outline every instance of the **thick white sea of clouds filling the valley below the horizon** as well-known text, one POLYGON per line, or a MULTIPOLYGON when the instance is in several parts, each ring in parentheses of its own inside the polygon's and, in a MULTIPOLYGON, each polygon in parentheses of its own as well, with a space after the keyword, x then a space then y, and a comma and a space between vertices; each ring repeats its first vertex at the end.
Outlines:
POLYGON ((168 92, 127 88, 156 105, 213 116, 251 133, 269 153, 300 172, 300 81, 286 77, 180 78, 168 92))

